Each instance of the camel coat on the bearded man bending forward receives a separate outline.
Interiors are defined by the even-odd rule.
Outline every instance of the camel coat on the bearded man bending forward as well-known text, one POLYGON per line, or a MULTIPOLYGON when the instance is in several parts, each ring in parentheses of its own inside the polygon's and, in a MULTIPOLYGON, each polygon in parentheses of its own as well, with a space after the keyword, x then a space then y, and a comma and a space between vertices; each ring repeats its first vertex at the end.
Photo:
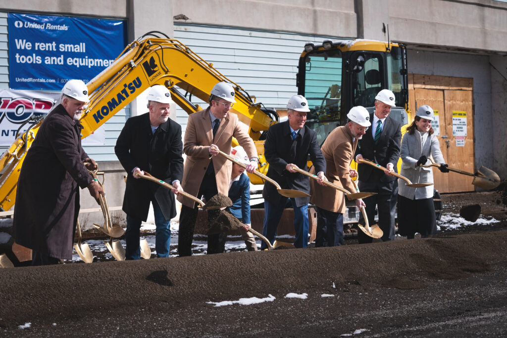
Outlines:
MULTIPOLYGON (((355 192, 355 187, 349 175, 350 162, 357 147, 348 125, 335 128, 325 139, 320 150, 325 158, 325 177, 329 182, 355 192)), ((312 167, 310 173, 315 174, 312 167)), ((329 186, 321 186, 316 180, 310 181, 310 202, 316 206, 334 213, 345 213, 345 194, 329 186)))

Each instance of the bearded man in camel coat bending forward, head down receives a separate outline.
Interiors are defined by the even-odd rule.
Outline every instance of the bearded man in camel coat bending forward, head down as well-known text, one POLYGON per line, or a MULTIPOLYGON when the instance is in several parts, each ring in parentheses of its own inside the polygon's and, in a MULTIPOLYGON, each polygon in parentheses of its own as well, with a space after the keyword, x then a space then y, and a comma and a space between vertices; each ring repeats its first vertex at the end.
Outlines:
MULTIPOLYGON (((363 138, 370 127, 370 114, 365 107, 357 106, 347 114, 347 124, 335 128, 325 139, 320 150, 325 158, 328 180, 350 192, 355 191, 351 177, 357 175, 350 168, 357 142, 363 138)), ((310 171, 311 172, 311 171, 310 171)), ((315 246, 343 245, 343 213, 345 213, 345 194, 329 186, 320 186, 310 181, 310 202, 317 206, 317 231, 315 246)), ((357 208, 365 202, 355 200, 357 208)))

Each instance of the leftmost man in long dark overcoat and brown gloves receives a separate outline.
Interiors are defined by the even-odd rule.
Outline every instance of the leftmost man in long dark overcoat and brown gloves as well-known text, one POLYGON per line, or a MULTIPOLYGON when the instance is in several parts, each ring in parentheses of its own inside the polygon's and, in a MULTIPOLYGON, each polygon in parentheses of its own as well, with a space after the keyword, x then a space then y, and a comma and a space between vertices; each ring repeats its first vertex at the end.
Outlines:
POLYGON ((32 265, 72 259, 79 215, 79 187, 97 200, 104 191, 88 173, 97 164, 81 147, 79 117, 88 88, 69 80, 60 104, 44 119, 21 167, 14 228, 16 243, 32 249, 32 265))

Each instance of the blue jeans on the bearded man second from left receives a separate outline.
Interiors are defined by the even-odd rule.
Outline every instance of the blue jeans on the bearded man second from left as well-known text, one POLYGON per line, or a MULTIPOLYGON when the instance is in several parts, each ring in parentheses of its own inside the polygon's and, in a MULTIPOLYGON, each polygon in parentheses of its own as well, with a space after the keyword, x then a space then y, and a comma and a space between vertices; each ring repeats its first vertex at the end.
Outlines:
MULTIPOLYGON (((155 250, 157 257, 169 257, 169 247, 171 244, 171 220, 166 220, 162 210, 155 198, 152 200, 153 214, 155 216, 155 250)), ((125 230, 125 259, 138 260, 141 258, 139 249, 139 230, 141 221, 133 219, 127 215, 127 230, 125 230)))

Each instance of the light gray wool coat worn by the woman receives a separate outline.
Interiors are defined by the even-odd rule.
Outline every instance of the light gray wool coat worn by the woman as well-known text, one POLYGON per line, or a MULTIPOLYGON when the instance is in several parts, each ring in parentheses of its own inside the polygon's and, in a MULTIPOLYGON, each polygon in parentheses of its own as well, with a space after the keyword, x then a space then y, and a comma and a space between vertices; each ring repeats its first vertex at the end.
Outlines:
MULTIPOLYGON (((416 167, 417 160, 422 155, 433 157, 436 163, 445 163, 437 136, 434 134, 426 138, 421 144, 422 135, 417 130, 414 134, 406 133, 402 140, 400 157, 402 158, 401 175, 408 178, 412 183, 433 183, 433 167, 416 167)), ((430 164, 429 159, 424 165, 430 164)), ((409 199, 424 199, 433 197, 433 185, 423 188, 411 188, 405 185, 405 181, 398 179, 398 194, 409 199)))

